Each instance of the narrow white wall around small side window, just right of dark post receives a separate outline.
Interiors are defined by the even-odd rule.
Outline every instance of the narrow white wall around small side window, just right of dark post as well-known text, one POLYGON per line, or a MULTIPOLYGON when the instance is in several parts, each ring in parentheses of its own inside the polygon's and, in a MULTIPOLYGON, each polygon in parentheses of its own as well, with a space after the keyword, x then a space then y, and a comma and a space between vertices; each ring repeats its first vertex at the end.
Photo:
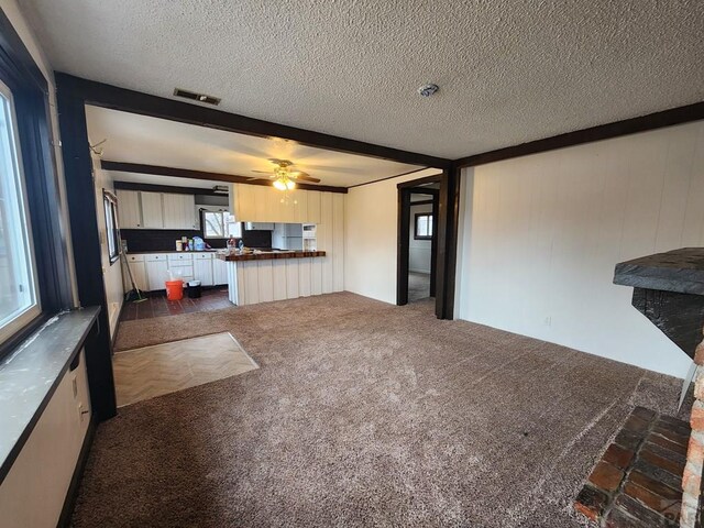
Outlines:
MULTIPOLYGON (((95 139, 90 140, 91 142, 95 139)), ((100 158, 92 156, 94 182, 96 185, 96 210, 98 213, 98 234, 100 238, 100 260, 102 261, 102 282, 106 286, 106 299, 108 301, 108 320, 110 322, 110 337, 114 336, 118 328, 118 319, 124 300, 122 283, 122 263, 110 263, 108 250, 108 230, 106 227, 106 211, 102 204, 102 190, 114 194, 114 180, 109 172, 100 168, 100 158)))

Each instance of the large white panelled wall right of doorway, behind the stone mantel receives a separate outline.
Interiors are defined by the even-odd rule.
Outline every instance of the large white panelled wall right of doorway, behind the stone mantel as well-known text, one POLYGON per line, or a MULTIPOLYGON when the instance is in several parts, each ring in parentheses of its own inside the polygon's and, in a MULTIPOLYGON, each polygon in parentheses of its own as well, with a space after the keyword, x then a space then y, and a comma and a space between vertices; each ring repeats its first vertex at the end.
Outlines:
POLYGON ((689 358, 613 276, 704 245, 704 122, 482 165, 462 184, 461 319, 684 376, 689 358))

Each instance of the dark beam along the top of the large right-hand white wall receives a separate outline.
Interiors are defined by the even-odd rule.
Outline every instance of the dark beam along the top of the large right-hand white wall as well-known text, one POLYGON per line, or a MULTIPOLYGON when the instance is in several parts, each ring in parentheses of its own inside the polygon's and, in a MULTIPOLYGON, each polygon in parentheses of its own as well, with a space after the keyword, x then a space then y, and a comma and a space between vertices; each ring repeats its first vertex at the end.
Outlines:
POLYGON ((649 113, 648 116, 625 119, 623 121, 576 130, 574 132, 568 132, 566 134, 521 143, 506 148, 474 154, 457 160, 454 165, 460 168, 474 167, 485 163, 501 162, 503 160, 510 160, 512 157, 527 156, 529 154, 538 154, 539 152, 592 143, 594 141, 609 140, 622 135, 698 121, 700 119, 704 119, 704 102, 695 102, 694 105, 672 108, 661 112, 649 113))

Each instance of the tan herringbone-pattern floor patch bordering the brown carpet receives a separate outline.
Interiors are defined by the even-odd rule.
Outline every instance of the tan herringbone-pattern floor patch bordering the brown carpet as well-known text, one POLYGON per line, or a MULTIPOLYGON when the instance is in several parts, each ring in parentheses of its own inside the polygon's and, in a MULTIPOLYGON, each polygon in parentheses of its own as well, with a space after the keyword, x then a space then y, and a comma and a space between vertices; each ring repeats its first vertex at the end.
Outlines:
POLYGON ((229 332, 117 352, 112 366, 118 407, 258 369, 229 332))

